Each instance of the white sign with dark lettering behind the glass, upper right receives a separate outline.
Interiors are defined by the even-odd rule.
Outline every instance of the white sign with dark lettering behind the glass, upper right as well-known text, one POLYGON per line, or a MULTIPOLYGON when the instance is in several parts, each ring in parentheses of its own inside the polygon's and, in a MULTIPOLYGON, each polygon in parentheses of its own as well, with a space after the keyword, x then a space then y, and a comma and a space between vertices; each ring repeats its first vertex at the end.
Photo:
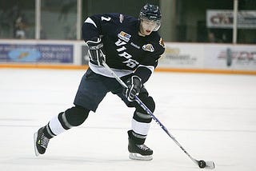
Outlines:
MULTIPOLYGON (((233 10, 207 10, 207 28, 233 28, 233 10)), ((238 11, 238 29, 256 29, 256 10, 238 11)))

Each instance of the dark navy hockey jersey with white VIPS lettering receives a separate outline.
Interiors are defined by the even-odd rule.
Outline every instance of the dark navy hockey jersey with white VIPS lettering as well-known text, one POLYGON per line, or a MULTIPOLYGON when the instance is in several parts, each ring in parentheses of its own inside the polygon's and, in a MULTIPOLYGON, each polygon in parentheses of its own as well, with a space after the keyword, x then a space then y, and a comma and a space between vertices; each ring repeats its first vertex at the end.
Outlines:
MULTIPOLYGON (((158 32, 152 32, 145 37, 139 36, 139 25, 138 18, 131 16, 116 13, 95 14, 84 22, 82 35, 85 41, 94 37, 102 38, 106 64, 120 77, 138 69, 147 69, 146 73, 149 75, 146 78, 141 76, 146 82, 165 49, 158 32)), ((94 72, 111 77, 103 66, 96 66, 91 62, 89 66, 94 72)))

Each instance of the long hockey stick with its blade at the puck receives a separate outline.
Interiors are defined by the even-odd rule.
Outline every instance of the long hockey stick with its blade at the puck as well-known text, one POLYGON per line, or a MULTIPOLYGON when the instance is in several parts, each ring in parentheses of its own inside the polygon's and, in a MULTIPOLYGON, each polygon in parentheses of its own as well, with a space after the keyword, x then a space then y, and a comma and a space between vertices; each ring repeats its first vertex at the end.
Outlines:
MULTIPOLYGON (((106 68, 106 70, 108 70, 110 72, 110 74, 124 87, 124 88, 127 88, 127 85, 126 83, 122 82, 121 78, 118 77, 117 74, 114 73, 113 70, 110 69, 110 67, 106 64, 106 62, 102 62, 102 65, 106 68)), ((158 120, 157 117, 154 116, 154 114, 150 111, 150 109, 148 109, 146 107, 146 105, 137 97, 135 96, 135 101, 138 103, 138 105, 140 105, 145 111, 146 113, 150 114, 150 116, 154 119, 154 121, 168 134, 168 136, 179 146, 179 148, 182 149, 182 151, 184 153, 186 153, 186 155, 188 157, 190 157, 190 159, 192 161, 194 161, 194 163, 196 165, 198 165, 199 168, 206 168, 206 169, 214 169, 215 168, 215 165, 214 165, 214 161, 203 161, 203 160, 196 160, 194 159, 194 157, 192 157, 190 155, 190 153, 188 153, 186 151, 186 149, 184 149, 182 147, 182 145, 176 140, 176 138, 169 133, 169 131, 166 129, 166 127, 164 125, 162 125, 161 121, 158 120)))

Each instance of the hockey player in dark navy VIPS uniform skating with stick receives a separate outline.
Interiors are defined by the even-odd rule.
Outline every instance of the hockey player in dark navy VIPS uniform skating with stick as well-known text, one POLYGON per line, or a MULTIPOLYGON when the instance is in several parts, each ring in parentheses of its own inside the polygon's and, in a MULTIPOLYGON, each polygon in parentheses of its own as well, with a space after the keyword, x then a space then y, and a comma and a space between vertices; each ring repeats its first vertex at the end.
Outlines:
POLYGON ((74 106, 53 117, 34 133, 37 156, 46 152, 50 138, 86 121, 90 111, 95 112, 106 93, 111 92, 135 109, 128 131, 130 159, 152 159, 153 150, 144 144, 152 118, 134 101, 134 97, 138 96, 154 112, 154 100, 143 84, 150 78, 165 50, 157 32, 161 17, 158 6, 146 4, 138 18, 115 13, 86 18, 82 35, 89 46, 89 69, 82 77, 74 106), (102 62, 126 82, 127 89, 122 88, 102 62))

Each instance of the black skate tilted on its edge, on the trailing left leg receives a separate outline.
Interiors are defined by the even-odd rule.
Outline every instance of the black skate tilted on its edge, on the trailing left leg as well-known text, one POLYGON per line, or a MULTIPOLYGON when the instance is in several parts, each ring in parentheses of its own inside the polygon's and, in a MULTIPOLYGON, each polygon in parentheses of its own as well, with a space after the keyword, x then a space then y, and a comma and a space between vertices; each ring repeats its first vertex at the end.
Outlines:
POLYGON ((34 133, 34 152, 36 156, 46 153, 46 148, 49 143, 49 138, 42 132, 44 127, 38 129, 38 132, 34 133))

